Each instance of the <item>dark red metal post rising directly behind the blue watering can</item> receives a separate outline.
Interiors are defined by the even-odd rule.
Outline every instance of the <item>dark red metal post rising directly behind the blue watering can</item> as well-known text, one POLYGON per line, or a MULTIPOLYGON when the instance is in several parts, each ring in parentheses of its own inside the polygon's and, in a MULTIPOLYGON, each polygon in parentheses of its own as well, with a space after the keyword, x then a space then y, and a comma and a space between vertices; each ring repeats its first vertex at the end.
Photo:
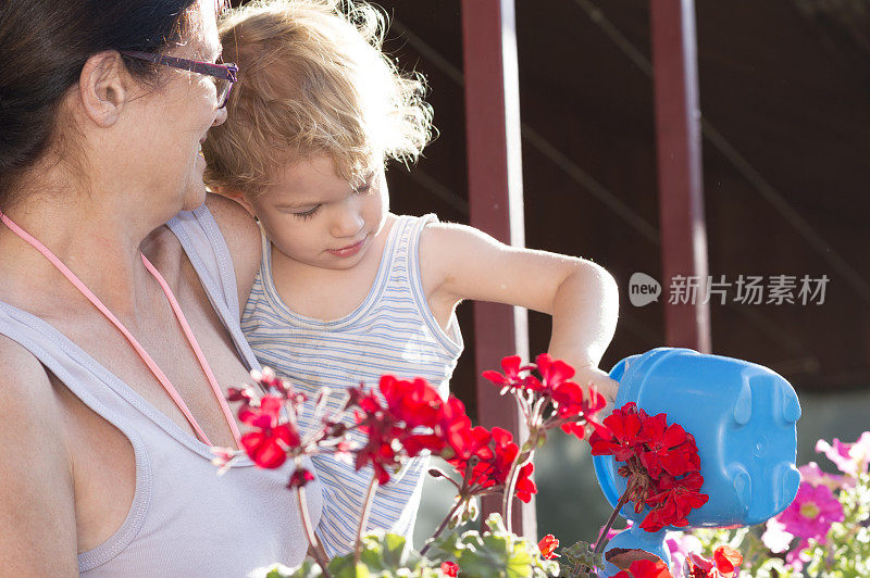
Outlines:
MULTIPOLYGON (((662 286, 676 276, 698 280, 697 293, 672 303, 667 293, 669 345, 710 351, 707 230, 701 177, 700 109, 694 0, 650 0, 658 144, 662 286), (694 302, 693 302, 694 301, 694 302)), ((688 282, 686 282, 688 287, 688 282)))

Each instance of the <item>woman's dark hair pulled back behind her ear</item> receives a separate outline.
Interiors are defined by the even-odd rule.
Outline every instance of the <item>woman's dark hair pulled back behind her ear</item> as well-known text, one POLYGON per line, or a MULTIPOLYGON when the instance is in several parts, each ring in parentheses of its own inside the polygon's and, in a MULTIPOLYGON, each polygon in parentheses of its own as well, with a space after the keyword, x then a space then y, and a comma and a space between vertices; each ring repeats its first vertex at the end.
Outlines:
MULTIPOLYGON (((187 34, 195 0, 2 0, 0 2, 0 200, 42 153, 63 95, 91 55, 159 52, 187 34)), ((156 68, 124 59, 132 74, 156 68)))

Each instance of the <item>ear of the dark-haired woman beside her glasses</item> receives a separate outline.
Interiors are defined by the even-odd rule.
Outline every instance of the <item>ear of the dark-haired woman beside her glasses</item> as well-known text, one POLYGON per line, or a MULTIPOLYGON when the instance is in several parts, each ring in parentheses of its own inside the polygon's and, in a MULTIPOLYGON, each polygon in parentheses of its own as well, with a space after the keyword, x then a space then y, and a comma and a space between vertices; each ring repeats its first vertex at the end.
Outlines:
POLYGON ((124 108, 130 81, 117 51, 90 56, 78 77, 78 97, 88 118, 101 127, 112 126, 124 108))

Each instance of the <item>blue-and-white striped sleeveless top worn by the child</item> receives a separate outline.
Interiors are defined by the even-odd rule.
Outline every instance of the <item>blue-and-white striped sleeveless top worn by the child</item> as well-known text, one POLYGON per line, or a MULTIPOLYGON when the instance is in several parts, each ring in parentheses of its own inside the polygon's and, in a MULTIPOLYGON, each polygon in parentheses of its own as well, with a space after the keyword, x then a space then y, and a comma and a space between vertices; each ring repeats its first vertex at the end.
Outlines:
MULTIPOLYGON (((423 377, 446 398, 463 344, 456 315, 443 330, 423 291, 418 249, 423 227, 433 221, 435 215, 399 216, 368 296, 353 312, 331 321, 300 315, 282 301, 272 279, 272 246, 263 235, 263 260, 241 321, 257 359, 311 400, 328 388, 330 413, 343 406, 347 388, 361 381, 376 387, 384 374, 423 377)), ((320 425, 310 409, 299 422, 304 430, 320 425)), ((323 485, 321 539, 331 556, 349 552, 372 468, 357 473, 332 454, 313 456, 312 462, 323 485)), ((377 489, 369 528, 410 537, 427 462, 411 460, 377 489)))

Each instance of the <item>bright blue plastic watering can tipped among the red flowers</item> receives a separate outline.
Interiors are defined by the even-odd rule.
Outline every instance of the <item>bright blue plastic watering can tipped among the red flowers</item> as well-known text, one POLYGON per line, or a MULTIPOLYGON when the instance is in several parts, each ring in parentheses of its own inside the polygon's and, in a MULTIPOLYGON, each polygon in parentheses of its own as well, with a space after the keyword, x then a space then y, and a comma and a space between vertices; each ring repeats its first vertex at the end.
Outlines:
MULTIPOLYGON (((616 406, 635 402, 649 415, 666 413, 695 437, 704 476, 701 493, 709 501, 688 515, 689 527, 760 524, 795 499, 800 474, 795 466, 800 403, 780 375, 741 360, 689 349, 658 348, 619 362, 610 377, 620 382, 616 406)), ((625 478, 611 455, 594 456, 598 483, 616 507, 625 478)), ((626 504, 620 514, 634 522, 607 545, 641 549, 670 564, 664 545, 668 529, 639 527, 648 510, 635 514, 626 504)), ((619 568, 606 563, 605 576, 619 568)))

